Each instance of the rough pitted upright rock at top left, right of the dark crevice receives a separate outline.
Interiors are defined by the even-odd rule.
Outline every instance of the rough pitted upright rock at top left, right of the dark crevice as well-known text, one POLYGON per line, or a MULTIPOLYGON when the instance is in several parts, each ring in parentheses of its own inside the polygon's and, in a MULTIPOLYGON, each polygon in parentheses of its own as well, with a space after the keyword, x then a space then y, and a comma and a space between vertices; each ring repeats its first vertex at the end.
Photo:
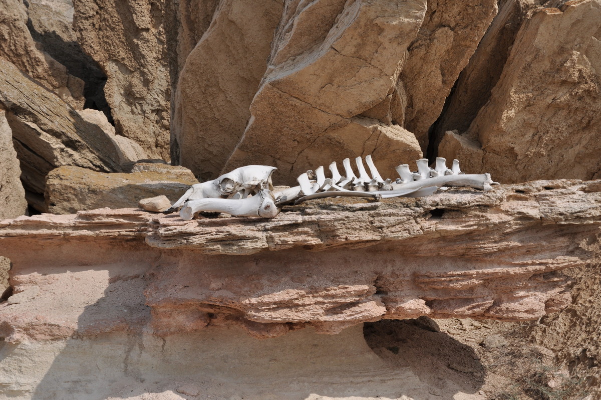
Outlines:
POLYGON ((79 43, 102 67, 118 135, 153 158, 169 160, 171 78, 165 1, 75 2, 79 43))

